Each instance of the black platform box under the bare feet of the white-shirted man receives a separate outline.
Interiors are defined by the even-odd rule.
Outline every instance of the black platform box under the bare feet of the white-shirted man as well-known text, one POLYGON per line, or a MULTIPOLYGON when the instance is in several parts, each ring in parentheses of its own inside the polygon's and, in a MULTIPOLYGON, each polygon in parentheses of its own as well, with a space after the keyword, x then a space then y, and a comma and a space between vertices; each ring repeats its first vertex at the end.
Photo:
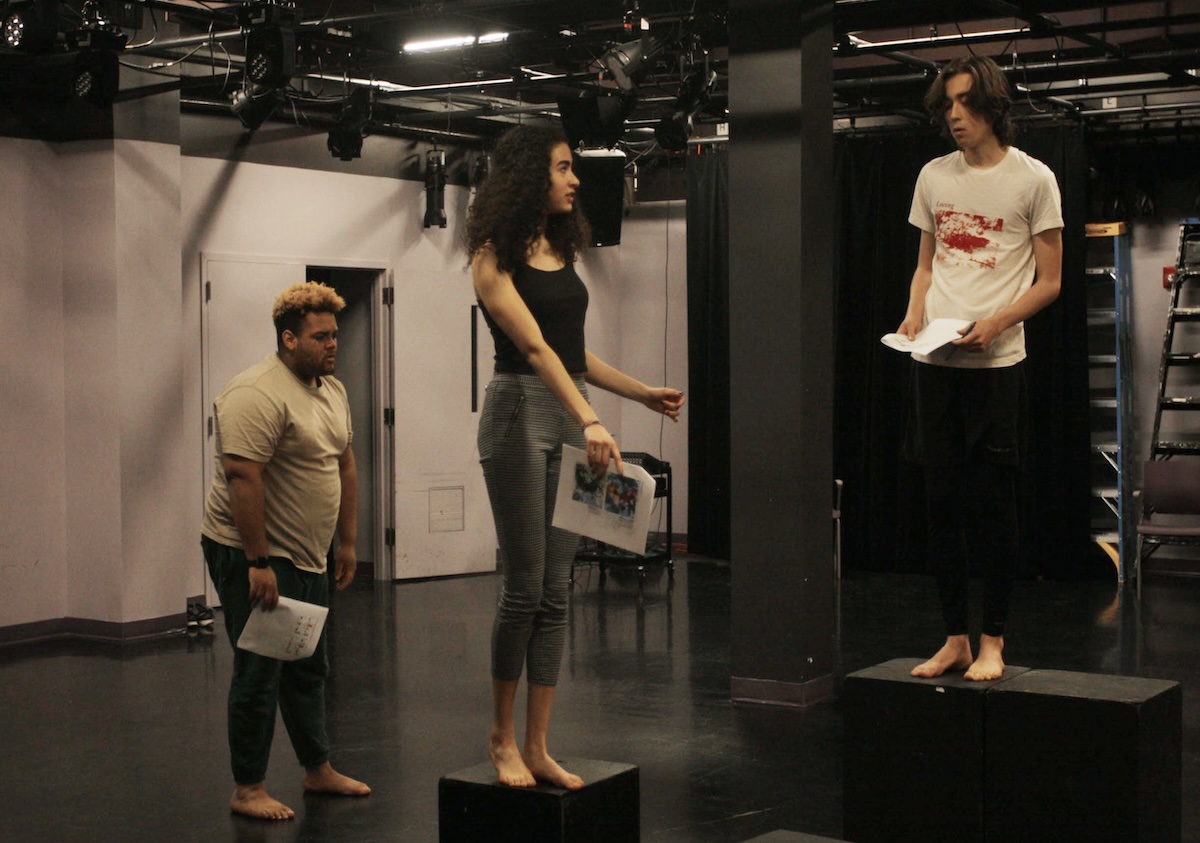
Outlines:
POLYGON ((910 676, 922 662, 892 659, 842 684, 847 841, 983 839, 986 695, 1028 668, 1007 665, 990 682, 910 676))

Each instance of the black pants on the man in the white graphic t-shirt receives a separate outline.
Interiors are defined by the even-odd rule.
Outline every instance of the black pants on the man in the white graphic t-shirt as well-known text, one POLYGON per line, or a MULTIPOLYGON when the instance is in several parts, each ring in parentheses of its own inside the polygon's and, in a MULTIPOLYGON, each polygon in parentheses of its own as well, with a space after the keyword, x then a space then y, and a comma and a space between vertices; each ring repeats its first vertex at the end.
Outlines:
POLYGON ((1025 426, 1021 364, 913 364, 905 453, 925 468, 928 552, 947 635, 967 633, 972 561, 984 574, 983 632, 1004 634, 1020 552, 1016 483, 1025 426))

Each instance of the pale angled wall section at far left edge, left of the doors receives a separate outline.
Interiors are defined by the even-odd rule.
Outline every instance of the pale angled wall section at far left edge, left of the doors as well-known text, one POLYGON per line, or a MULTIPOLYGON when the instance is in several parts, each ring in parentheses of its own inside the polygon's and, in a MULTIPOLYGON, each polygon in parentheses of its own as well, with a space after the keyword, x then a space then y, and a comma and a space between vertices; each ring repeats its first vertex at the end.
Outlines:
POLYGON ((0 144, 0 626, 178 616, 179 148, 0 144))

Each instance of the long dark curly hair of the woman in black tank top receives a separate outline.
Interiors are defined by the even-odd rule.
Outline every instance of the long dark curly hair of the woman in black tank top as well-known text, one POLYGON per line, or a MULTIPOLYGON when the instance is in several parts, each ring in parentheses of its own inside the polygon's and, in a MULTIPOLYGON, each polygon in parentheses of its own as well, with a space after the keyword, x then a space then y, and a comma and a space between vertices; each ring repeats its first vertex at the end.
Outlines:
POLYGON ((545 225, 554 253, 575 262, 590 239, 578 203, 569 214, 546 216, 550 150, 560 143, 566 143, 566 136, 552 127, 521 125, 500 136, 487 178, 467 213, 469 257, 490 244, 497 267, 511 273, 524 264, 545 225))

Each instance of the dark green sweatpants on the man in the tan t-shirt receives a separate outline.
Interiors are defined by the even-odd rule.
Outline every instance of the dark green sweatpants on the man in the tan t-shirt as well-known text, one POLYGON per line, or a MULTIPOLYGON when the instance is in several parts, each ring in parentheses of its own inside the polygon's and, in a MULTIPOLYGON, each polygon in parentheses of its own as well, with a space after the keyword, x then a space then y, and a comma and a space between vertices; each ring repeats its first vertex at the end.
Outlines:
MULTIPOLYGON (((233 645, 233 682, 229 684, 229 757, 238 784, 266 778, 266 763, 275 736, 275 710, 283 716, 296 759, 305 767, 329 760, 325 734, 325 633, 308 658, 281 662, 238 648, 250 617, 250 564, 241 548, 200 538, 209 574, 221 598, 226 632, 233 645)), ((271 557, 280 594, 317 605, 329 605, 329 578, 300 570, 290 560, 271 557)))

